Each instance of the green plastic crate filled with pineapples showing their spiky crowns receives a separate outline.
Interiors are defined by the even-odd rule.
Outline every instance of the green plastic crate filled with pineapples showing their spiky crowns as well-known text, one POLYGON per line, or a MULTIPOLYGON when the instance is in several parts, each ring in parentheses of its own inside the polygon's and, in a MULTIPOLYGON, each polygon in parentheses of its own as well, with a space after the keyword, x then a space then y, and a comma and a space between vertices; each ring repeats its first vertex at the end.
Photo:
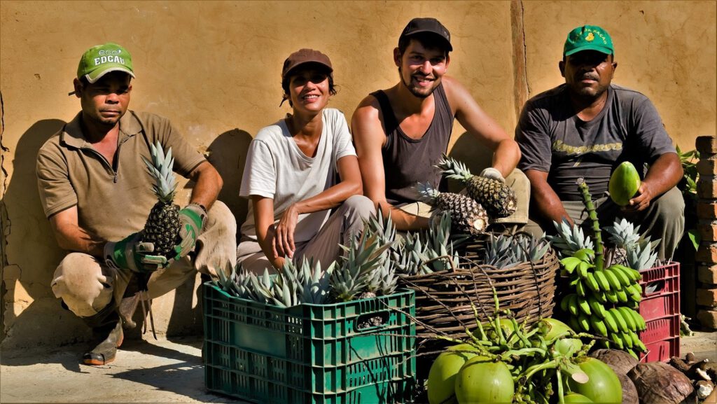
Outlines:
MULTIPOLYGON (((208 390, 255 403, 403 403, 415 384, 414 292, 371 217, 327 268, 286 260, 204 283, 208 390)), ((225 275, 229 273, 229 275, 225 275)))

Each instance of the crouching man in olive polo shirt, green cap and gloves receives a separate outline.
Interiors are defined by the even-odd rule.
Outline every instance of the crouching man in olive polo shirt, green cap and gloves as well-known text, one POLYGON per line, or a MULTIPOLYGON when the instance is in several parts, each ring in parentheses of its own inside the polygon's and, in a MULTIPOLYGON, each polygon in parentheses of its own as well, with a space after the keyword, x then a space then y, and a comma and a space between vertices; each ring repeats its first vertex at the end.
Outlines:
POLYGON ((132 326, 138 301, 144 305, 173 290, 197 270, 236 261, 236 222, 216 200, 222 178, 166 118, 128 111, 134 77, 132 57, 120 45, 87 50, 70 93, 82 111, 37 155, 44 213, 57 243, 70 252, 54 272, 52 291, 92 327, 97 345, 83 355, 87 365, 115 359, 123 339, 120 315, 132 326), (143 159, 151 161, 149 146, 157 142, 171 148, 174 170, 195 182, 189 205, 179 211, 171 256, 152 255, 153 244, 142 242, 158 199, 143 159), (128 289, 133 278, 148 280, 141 296, 128 289))

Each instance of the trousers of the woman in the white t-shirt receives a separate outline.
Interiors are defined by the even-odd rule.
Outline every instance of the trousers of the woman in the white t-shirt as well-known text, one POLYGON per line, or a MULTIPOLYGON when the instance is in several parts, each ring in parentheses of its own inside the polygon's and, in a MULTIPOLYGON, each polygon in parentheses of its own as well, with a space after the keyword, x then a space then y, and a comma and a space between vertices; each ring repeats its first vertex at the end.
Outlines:
MULTIPOLYGON (((328 268, 343 252, 339 244, 348 245, 351 237, 364 229, 364 220, 368 220, 375 212, 371 199, 363 195, 349 197, 328 217, 314 238, 296 245, 293 262, 300 264, 304 257, 313 258, 314 263, 321 263, 321 268, 328 268)), ((265 270, 270 273, 274 271, 256 240, 242 238, 237 248, 237 257, 242 268, 257 275, 265 270)))

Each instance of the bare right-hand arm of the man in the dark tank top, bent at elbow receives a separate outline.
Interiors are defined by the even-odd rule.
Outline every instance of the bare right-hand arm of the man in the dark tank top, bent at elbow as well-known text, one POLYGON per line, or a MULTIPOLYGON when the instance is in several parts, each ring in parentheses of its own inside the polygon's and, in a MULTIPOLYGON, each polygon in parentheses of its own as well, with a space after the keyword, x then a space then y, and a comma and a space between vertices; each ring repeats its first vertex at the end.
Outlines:
POLYGON ((503 177, 507 177, 521 159, 521 149, 516 141, 508 137, 503 128, 480 108, 473 95, 457 80, 444 76, 443 87, 458 122, 481 144, 493 150, 493 168, 503 174, 503 177))

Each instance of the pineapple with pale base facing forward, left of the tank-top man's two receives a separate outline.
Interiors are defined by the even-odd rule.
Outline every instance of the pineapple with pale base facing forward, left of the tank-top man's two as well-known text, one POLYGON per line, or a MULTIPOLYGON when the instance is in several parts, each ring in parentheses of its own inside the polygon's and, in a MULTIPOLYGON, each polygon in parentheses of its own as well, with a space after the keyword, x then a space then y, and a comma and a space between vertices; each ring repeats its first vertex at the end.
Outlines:
POLYGON ((438 192, 430 184, 419 183, 416 187, 419 199, 436 210, 450 213, 453 227, 458 232, 478 235, 488 227, 488 215, 480 203, 462 194, 438 192))

